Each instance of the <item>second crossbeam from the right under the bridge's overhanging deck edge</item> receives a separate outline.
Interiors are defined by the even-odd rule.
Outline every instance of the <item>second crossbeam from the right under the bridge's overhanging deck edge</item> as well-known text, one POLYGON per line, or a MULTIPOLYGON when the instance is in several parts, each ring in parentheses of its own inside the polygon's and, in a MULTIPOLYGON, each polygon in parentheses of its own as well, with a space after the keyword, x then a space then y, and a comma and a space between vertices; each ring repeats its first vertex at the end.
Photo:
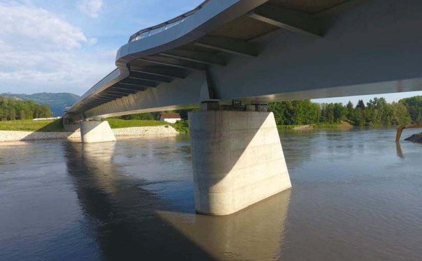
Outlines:
POLYGON ((258 56, 258 50, 251 42, 206 35, 194 42, 195 45, 213 50, 245 55, 249 57, 258 56))

